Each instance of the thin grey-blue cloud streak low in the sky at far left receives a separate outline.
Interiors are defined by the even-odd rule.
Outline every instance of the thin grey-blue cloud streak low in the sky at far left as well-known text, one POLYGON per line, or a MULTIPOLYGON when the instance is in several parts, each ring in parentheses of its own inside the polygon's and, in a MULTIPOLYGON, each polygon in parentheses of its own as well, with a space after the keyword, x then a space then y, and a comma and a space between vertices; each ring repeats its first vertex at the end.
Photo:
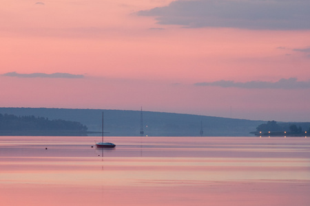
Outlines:
POLYGON ((2 76, 11 76, 18 78, 84 78, 83 75, 71 73, 17 73, 15 71, 3 73, 2 76))

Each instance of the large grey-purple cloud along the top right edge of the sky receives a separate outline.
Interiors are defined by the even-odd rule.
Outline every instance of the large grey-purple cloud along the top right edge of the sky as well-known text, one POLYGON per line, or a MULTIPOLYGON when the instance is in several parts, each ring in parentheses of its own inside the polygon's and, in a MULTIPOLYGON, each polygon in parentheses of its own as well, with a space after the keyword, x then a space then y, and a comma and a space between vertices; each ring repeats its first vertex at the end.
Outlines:
POLYGON ((309 8, 309 0, 196 0, 172 1, 165 7, 141 10, 137 14, 156 16, 161 25, 308 30, 309 8))

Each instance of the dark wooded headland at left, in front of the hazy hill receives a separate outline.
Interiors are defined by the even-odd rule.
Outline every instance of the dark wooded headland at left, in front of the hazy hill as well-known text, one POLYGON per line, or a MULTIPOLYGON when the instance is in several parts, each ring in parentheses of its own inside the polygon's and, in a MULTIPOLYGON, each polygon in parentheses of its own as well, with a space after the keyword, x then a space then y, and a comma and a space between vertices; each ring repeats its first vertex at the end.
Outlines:
POLYGON ((62 119, 50 120, 45 117, 34 117, 34 115, 16 116, 0 114, 0 135, 12 135, 14 133, 17 135, 76 135, 81 133, 83 135, 86 132, 87 126, 79 122, 62 119))

